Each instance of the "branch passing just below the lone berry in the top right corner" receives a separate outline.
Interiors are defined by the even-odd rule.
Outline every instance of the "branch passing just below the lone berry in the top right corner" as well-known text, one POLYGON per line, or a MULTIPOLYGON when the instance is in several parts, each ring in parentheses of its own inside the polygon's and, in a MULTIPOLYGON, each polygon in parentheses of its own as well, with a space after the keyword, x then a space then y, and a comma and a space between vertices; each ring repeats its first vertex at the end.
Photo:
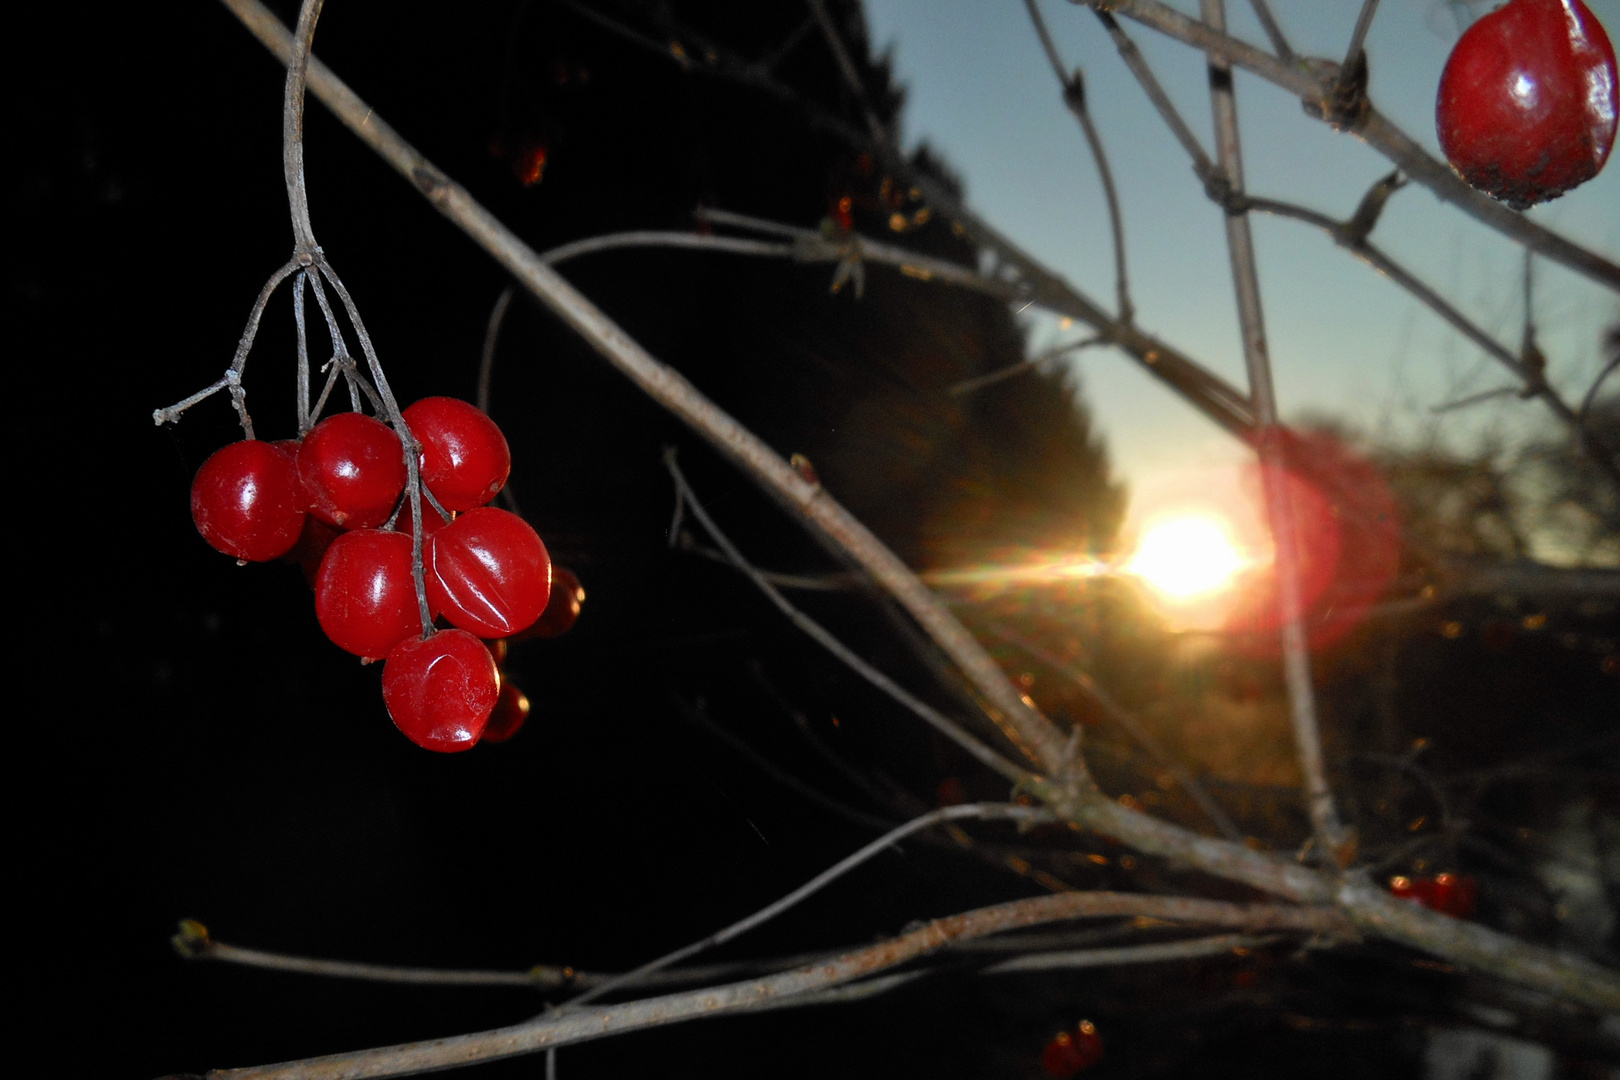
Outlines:
MULTIPOLYGON (((1324 102, 1332 99, 1332 91, 1338 81, 1336 65, 1332 63, 1288 63, 1247 42, 1230 37, 1209 23, 1187 18, 1174 8, 1158 0, 1084 0, 1098 11, 1111 11, 1136 19, 1144 26, 1176 40, 1207 52, 1226 63, 1252 71, 1262 79, 1273 83, 1285 91, 1296 94, 1315 113, 1328 118, 1324 102), (1325 71, 1319 74, 1319 71, 1325 71)), ((1418 183, 1424 185, 1447 202, 1455 204, 1466 214, 1484 222, 1498 233, 1515 240, 1537 254, 1555 262, 1562 262, 1571 270, 1583 274, 1601 285, 1620 290, 1620 266, 1604 259, 1594 251, 1565 240, 1563 236, 1542 228, 1531 219, 1508 209, 1490 196, 1481 194, 1464 180, 1452 172, 1443 162, 1435 160, 1411 136, 1388 121, 1377 108, 1367 107, 1354 126, 1354 134, 1375 151, 1395 162, 1396 167, 1418 183)))

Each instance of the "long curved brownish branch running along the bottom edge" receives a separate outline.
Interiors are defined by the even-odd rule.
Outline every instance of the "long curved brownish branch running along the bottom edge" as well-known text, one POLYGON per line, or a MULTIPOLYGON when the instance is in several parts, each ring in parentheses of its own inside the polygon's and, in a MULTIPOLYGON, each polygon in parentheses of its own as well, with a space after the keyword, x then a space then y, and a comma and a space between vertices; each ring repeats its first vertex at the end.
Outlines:
POLYGON ((625 1031, 742 1012, 766 1002, 784 1002, 812 991, 854 983, 925 957, 957 941, 1043 923, 1111 915, 1145 915, 1186 925, 1230 926, 1254 933, 1294 931, 1333 938, 1354 936, 1343 915, 1333 908, 1244 905, 1116 892, 1064 892, 933 920, 927 926, 867 949, 744 983, 580 1009, 578 1012, 557 1010, 526 1023, 492 1031, 308 1057, 277 1065, 220 1069, 211 1072, 209 1077, 211 1080, 371 1080, 499 1061, 625 1031))

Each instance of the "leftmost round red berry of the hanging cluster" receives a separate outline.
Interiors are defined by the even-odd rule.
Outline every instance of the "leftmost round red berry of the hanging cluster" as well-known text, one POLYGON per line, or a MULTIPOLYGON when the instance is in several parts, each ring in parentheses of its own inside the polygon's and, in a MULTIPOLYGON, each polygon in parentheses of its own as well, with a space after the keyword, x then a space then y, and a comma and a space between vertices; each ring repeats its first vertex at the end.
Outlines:
POLYGON ((259 439, 220 447, 191 481, 191 520, 215 551, 246 562, 279 559, 303 531, 298 471, 259 439))

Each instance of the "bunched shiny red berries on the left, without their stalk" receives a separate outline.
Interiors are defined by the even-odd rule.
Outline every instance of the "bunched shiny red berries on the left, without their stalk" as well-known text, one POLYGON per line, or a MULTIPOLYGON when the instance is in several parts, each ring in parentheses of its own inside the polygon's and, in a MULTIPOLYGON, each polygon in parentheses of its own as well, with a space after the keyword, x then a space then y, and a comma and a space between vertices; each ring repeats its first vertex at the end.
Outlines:
POLYGON ((300 562, 321 630, 360 657, 386 657, 382 701, 395 725, 428 750, 468 750, 510 738, 528 716, 523 693, 502 687, 505 640, 562 633, 585 594, 572 573, 554 580, 523 518, 484 505, 512 470, 492 419, 444 397, 416 402, 403 418, 431 497, 421 515, 429 625, 413 572, 405 453, 379 419, 339 413, 298 440, 224 447, 191 483, 191 518, 240 562, 300 562), (433 628, 439 617, 449 630, 433 628))

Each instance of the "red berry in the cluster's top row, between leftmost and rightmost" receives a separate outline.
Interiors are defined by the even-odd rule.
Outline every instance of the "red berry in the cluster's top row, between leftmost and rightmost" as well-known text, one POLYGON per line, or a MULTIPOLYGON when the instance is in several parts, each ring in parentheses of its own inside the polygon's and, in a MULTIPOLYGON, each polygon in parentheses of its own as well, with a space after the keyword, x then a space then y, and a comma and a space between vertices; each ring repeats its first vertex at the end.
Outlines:
POLYGON ((364 413, 327 416, 298 449, 309 513, 345 529, 382 525, 405 491, 399 436, 364 413))

